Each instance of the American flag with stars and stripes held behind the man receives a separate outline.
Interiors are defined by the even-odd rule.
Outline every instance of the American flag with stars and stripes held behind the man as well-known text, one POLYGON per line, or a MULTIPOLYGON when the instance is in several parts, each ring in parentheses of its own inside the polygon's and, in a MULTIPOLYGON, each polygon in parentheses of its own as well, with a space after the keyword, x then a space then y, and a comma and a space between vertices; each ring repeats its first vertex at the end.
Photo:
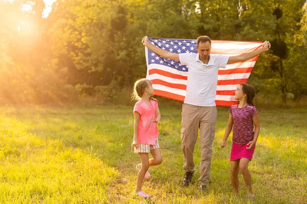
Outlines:
MULTIPOLYGON (((171 53, 196 53, 196 40, 148 38, 149 42, 171 53)), ((252 52, 264 45, 264 42, 212 40, 211 53, 235 56, 252 52)), ((174 100, 184 101, 186 94, 188 67, 178 61, 165 59, 145 47, 147 62, 146 78, 150 80, 155 94, 174 100)), ((240 83, 246 83, 258 56, 239 63, 228 64, 218 69, 216 106, 237 104, 234 91, 240 83)))

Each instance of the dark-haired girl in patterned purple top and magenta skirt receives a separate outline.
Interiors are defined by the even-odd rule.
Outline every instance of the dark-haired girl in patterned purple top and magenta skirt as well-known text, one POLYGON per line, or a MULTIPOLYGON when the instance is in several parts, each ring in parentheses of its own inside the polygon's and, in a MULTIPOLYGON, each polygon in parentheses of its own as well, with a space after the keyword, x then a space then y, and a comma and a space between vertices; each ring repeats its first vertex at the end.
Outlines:
POLYGON ((238 194, 238 172, 243 175, 249 198, 254 197, 252 177, 248 164, 252 160, 255 145, 260 131, 259 115, 253 105, 254 88, 249 84, 240 84, 234 92, 238 105, 229 109, 229 120, 221 147, 226 146, 226 140, 233 126, 232 147, 230 153, 230 179, 234 193, 238 194), (255 131, 254 131, 255 126, 255 131))

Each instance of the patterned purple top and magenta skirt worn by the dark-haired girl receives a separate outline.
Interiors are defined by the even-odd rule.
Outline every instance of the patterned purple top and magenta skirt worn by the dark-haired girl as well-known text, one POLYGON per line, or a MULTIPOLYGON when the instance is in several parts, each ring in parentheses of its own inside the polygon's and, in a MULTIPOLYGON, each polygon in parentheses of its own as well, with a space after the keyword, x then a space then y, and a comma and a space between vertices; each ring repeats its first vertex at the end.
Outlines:
POLYGON ((229 113, 233 118, 233 137, 230 153, 230 161, 240 158, 252 160, 255 146, 251 149, 247 145, 254 140, 254 122, 253 117, 258 113, 254 106, 247 105, 243 108, 238 108, 238 105, 231 106, 229 113))

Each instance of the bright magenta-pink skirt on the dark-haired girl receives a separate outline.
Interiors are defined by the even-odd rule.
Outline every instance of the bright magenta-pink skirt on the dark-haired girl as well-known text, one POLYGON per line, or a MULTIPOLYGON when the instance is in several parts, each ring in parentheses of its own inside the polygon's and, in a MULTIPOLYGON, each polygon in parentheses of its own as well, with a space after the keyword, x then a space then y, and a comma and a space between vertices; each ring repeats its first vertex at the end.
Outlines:
POLYGON ((247 158, 249 160, 252 160, 255 146, 251 149, 247 149, 246 147, 249 147, 247 144, 237 144, 235 142, 232 142, 231 152, 230 152, 230 161, 234 161, 241 158, 247 158))

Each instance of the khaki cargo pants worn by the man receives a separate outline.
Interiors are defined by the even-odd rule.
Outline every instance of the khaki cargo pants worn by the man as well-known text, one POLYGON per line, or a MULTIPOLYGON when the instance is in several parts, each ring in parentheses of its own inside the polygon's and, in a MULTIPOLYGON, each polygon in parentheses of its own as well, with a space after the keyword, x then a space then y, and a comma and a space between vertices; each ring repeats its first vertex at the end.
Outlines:
POLYGON ((216 107, 201 107, 189 104, 182 106, 181 147, 183 152, 183 170, 194 172, 194 146, 200 129, 201 176, 200 185, 209 183, 212 158, 212 143, 215 136, 216 107))

